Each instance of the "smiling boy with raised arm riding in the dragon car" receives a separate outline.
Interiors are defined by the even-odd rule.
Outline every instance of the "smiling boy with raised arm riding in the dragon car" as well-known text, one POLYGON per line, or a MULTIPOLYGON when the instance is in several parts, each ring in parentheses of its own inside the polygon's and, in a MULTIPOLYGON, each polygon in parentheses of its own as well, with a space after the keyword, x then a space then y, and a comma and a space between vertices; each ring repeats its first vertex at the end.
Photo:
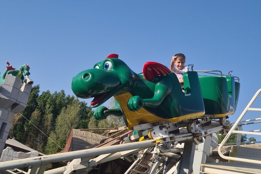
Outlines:
POLYGON ((184 66, 185 62, 186 62, 185 55, 182 53, 178 53, 172 57, 171 66, 170 66, 171 71, 177 75, 177 78, 180 81, 180 85, 183 92, 184 92, 183 74, 189 71, 189 67, 184 66), (176 65, 176 67, 174 65, 176 65))

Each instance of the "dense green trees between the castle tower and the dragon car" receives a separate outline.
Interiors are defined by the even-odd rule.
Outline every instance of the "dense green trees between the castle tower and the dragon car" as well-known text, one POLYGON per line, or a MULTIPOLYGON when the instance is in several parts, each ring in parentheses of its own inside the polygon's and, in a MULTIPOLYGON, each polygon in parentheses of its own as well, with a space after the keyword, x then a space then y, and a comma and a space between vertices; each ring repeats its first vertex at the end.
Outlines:
POLYGON ((26 108, 14 116, 9 136, 41 153, 57 153, 73 128, 88 128, 93 111, 64 90, 39 92, 39 85, 32 87, 26 108))

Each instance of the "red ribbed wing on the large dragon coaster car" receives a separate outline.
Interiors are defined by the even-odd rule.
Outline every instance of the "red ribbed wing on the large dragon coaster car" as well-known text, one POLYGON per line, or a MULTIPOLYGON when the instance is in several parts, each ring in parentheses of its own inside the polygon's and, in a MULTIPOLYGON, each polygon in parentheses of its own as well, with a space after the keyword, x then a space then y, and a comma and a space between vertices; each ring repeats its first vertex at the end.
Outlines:
POLYGON ((165 75, 171 73, 165 65, 157 62, 146 62, 143 67, 143 76, 146 80, 152 80, 157 75, 165 75))

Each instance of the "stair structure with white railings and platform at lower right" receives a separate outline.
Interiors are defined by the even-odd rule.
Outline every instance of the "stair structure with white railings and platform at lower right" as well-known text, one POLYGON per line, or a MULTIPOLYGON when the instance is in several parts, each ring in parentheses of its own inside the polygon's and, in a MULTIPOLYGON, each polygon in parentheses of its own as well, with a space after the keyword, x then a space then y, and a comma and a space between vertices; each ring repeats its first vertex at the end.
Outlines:
POLYGON ((242 131, 242 126, 248 124, 260 124, 261 118, 256 119, 249 119, 246 121, 254 121, 248 124, 242 124, 242 118, 246 115, 249 111, 261 111, 261 108, 251 108, 252 104, 255 102, 257 97, 260 95, 261 89, 259 89, 247 107, 243 110, 242 114, 239 116, 238 120, 235 122, 231 130, 228 132, 224 140, 221 142, 218 153, 219 155, 225 159, 229 160, 229 162, 219 162, 214 164, 200 164, 202 166, 201 172, 202 173, 229 173, 229 174, 237 174, 237 173, 255 173, 261 174, 261 149, 254 149, 254 148, 247 148, 247 147, 240 147, 240 139, 241 134, 250 134, 250 135, 261 135, 261 130, 250 130, 250 131, 242 131), (235 130, 238 127, 238 130, 235 130), (236 146, 232 146, 231 152, 229 156, 225 156, 222 153, 222 147, 232 135, 232 133, 238 134, 238 139, 236 146))

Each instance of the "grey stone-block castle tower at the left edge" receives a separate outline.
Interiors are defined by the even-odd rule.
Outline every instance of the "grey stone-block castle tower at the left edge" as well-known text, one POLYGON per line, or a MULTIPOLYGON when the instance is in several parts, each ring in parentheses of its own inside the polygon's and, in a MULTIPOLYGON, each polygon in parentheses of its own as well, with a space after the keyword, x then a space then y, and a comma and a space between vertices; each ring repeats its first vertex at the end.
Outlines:
POLYGON ((14 114, 26 107, 32 85, 22 84, 22 80, 6 75, 3 84, 0 84, 0 156, 10 131, 14 114))

